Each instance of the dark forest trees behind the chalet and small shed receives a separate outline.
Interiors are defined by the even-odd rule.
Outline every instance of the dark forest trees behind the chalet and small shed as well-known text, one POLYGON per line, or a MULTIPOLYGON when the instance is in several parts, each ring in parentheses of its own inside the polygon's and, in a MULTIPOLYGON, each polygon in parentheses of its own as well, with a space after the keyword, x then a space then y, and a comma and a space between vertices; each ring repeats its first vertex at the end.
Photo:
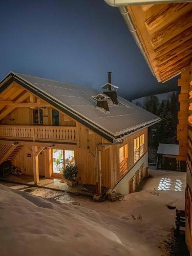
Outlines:
POLYGON ((155 95, 145 97, 143 104, 136 102, 145 110, 159 116, 161 121, 148 127, 148 162, 155 164, 159 143, 177 144, 178 94, 163 99, 155 95))

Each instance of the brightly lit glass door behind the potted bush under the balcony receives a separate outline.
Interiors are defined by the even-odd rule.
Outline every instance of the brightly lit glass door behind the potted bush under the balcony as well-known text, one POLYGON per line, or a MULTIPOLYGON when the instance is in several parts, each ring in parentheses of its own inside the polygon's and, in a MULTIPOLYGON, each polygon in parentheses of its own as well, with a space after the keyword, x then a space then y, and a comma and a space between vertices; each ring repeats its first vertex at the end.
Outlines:
POLYGON ((55 150, 53 149, 53 173, 60 174, 64 164, 69 162, 75 164, 74 150, 55 150))

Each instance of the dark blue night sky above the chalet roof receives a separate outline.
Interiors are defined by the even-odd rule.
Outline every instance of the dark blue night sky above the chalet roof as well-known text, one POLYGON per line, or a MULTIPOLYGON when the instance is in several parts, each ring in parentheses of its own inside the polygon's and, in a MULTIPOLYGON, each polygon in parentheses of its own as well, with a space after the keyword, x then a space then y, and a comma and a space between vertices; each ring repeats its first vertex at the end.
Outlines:
POLYGON ((99 89, 127 99, 177 89, 158 83, 117 8, 103 0, 1 0, 0 79, 11 70, 99 89))

